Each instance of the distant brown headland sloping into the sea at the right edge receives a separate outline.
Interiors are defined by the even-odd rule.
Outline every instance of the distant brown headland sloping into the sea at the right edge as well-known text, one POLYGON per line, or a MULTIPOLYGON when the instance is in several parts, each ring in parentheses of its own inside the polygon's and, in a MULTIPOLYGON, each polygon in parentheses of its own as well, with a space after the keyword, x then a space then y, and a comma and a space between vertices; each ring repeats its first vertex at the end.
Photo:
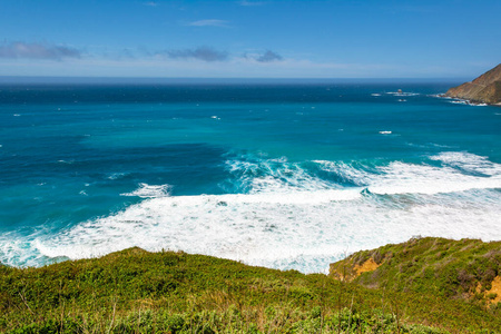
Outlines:
POLYGON ((445 96, 501 106, 501 63, 471 82, 449 89, 445 96))

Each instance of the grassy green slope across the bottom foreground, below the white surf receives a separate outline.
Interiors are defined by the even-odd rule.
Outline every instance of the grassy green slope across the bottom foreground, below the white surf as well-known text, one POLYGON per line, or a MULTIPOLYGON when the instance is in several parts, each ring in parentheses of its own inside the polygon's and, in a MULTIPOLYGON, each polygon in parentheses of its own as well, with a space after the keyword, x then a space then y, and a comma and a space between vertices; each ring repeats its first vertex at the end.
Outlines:
MULTIPOLYGON (((380 250, 384 261, 377 271, 387 266, 384 275, 390 278, 400 271, 396 248, 391 248, 399 245, 387 247, 380 250)), ((436 257, 442 256, 439 252, 436 257)), ((489 261, 485 269, 491 268, 489 261)), ((428 273, 425 263, 420 264, 428 273)), ((41 268, 0 266, 0 332, 497 333, 501 328, 498 308, 453 298, 451 293, 433 294, 431 287, 405 289, 387 283, 367 288, 356 283, 370 274, 348 283, 322 274, 139 248, 41 268)), ((381 275, 376 285, 386 282, 381 275)), ((395 278, 405 278, 400 275, 395 278)), ((402 282, 404 286, 407 281, 402 282)))

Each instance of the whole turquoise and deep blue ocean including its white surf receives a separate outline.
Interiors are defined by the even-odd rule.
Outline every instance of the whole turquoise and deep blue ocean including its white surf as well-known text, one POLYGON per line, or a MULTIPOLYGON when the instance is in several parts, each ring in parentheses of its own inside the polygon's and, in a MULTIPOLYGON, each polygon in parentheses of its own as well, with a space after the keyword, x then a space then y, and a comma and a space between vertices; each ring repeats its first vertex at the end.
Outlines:
POLYGON ((138 246, 325 273, 499 240, 501 108, 438 96, 456 84, 3 82, 0 262, 138 246))

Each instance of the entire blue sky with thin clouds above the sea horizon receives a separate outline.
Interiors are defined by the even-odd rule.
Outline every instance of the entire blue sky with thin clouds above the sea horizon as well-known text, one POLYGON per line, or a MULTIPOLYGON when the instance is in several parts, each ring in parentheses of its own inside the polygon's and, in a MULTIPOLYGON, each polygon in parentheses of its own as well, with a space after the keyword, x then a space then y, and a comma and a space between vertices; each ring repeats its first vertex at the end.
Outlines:
POLYGON ((501 1, 0 0, 0 76, 474 78, 501 1))

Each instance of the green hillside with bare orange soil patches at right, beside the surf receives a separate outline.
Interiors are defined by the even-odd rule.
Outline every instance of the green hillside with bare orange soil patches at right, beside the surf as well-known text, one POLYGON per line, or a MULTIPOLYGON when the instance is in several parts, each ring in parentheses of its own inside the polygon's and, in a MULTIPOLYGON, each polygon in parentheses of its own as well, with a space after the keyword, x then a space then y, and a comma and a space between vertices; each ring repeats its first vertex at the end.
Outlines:
POLYGON ((501 275, 501 242, 477 239, 449 240, 414 238, 399 245, 386 245, 358 252, 331 265, 331 274, 354 276, 353 268, 372 258, 380 266, 363 273, 354 282, 364 286, 396 292, 414 292, 444 298, 462 298, 490 306, 501 316, 501 304, 492 304, 492 282, 501 275))

